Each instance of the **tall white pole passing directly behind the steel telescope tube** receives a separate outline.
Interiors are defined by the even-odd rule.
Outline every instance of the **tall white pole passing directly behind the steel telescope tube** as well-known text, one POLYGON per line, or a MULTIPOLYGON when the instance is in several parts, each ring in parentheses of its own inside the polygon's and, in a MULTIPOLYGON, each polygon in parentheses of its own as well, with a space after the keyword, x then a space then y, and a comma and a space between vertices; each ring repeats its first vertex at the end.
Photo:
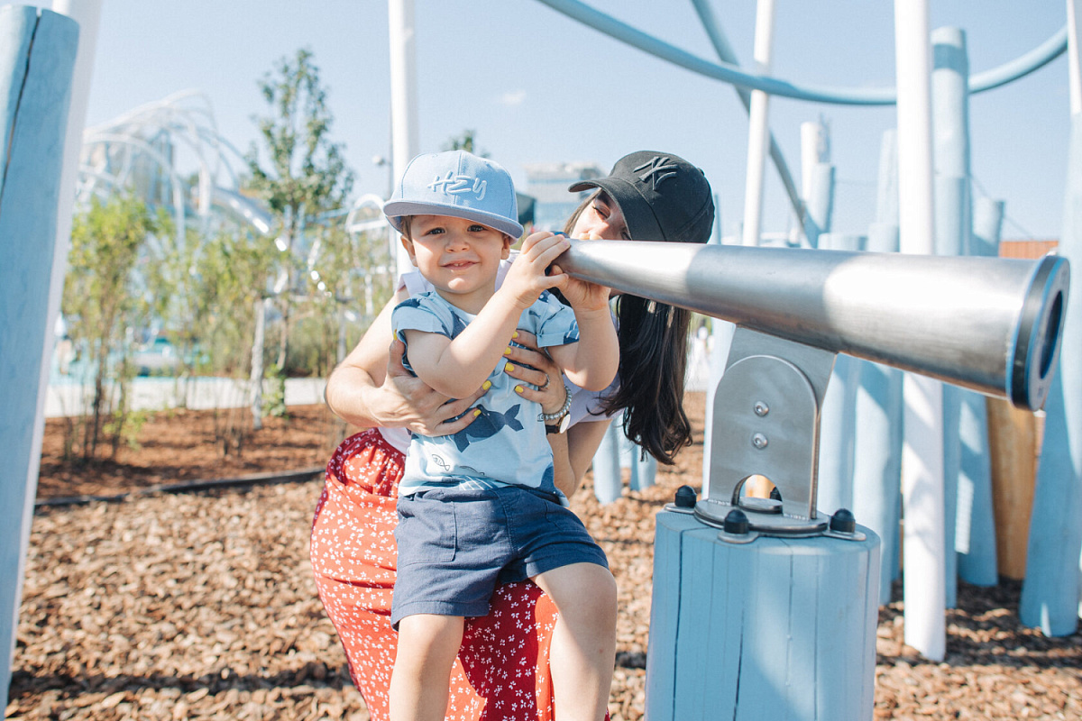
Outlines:
MULTIPOLYGON (((902 253, 934 252, 932 49, 928 0, 895 0, 898 191, 902 253)), ((932 660, 947 645, 944 588, 942 386, 907 373, 902 386, 906 643, 932 660)))

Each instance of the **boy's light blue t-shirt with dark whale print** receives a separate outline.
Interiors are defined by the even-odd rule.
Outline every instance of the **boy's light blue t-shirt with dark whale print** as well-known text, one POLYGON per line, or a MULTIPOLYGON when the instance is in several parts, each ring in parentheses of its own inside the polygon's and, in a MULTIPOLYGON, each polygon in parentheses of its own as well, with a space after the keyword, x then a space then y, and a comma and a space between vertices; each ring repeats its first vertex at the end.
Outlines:
MULTIPOLYGON (((469 313, 435 292, 403 301, 391 317, 395 335, 403 343, 407 330, 454 338, 471 320, 469 313)), ((517 328, 535 334, 541 348, 579 341, 575 312, 547 291, 523 311, 517 328)), ((466 428, 451 436, 412 436, 399 495, 457 485, 514 484, 556 491, 552 448, 545 438, 544 424, 538 418, 541 405, 515 392, 515 385, 520 382, 503 372, 505 363, 501 360, 489 373, 492 387, 475 404, 480 415, 466 428)), ((412 372, 408 344, 404 364, 412 372)), ((558 383, 559 378, 553 382, 558 383)))

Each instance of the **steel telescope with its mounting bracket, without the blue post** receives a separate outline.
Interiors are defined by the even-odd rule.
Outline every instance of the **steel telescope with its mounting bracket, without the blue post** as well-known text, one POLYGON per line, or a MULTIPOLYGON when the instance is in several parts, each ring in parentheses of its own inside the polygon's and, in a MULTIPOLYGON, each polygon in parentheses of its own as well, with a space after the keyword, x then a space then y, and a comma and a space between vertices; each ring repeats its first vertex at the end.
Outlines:
POLYGON ((1067 261, 1056 256, 638 241, 571 241, 556 263, 576 278, 736 323, 707 409, 709 497, 685 509, 733 543, 757 535, 859 539, 845 530, 852 515, 834 523, 816 509, 819 418, 839 352, 1040 409, 1059 352, 1070 277, 1067 261), (756 475, 780 498, 741 495, 756 475))

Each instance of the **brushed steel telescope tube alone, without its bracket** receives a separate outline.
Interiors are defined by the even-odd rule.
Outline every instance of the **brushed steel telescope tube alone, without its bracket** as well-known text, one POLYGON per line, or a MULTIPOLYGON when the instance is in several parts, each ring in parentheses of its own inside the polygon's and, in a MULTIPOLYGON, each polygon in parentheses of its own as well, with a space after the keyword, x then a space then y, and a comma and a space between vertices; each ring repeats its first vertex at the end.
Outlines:
POLYGON ((571 241, 576 278, 1038 410, 1070 270, 1039 261, 571 241))

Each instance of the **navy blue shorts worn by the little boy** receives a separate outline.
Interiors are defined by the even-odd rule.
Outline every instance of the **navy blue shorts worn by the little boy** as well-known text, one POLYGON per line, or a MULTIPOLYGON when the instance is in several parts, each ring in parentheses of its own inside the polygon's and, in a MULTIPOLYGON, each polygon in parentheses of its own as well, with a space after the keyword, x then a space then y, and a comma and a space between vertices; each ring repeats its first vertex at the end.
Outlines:
POLYGON ((570 565, 608 568, 579 517, 520 486, 434 489, 398 498, 391 623, 418 613, 484 616, 496 587, 570 565))

